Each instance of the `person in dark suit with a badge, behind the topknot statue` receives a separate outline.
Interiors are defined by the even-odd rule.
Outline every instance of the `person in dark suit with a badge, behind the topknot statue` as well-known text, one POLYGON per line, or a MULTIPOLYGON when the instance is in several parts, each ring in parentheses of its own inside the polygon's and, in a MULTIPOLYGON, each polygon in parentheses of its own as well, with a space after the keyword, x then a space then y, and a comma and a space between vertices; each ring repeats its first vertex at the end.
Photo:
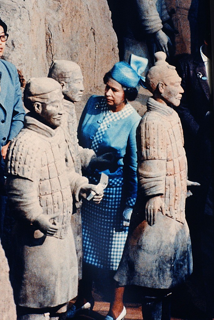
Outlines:
POLYGON ((213 99, 211 60, 203 55, 203 47, 195 56, 180 60, 177 71, 182 78, 184 94, 175 108, 184 132, 188 178, 201 184, 186 203, 193 252, 193 278, 198 286, 203 281, 207 311, 214 317, 214 223, 213 223, 213 99), (207 70, 206 67, 207 66, 207 70), (212 110, 212 111, 211 111, 212 110), (210 113, 211 112, 211 113, 210 113), (202 277, 203 270, 203 277, 202 277))

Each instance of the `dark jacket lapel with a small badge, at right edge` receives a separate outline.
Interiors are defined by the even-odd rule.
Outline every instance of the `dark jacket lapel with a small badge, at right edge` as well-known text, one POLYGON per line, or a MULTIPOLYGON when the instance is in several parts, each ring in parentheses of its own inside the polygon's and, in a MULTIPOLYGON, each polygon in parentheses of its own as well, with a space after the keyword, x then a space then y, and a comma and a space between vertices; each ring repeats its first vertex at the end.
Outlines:
MULTIPOLYGON (((200 52, 199 52, 199 54, 200 54, 200 52)), ((208 80, 203 79, 204 77, 207 77, 207 74, 206 74, 206 68, 205 68, 204 62, 202 60, 201 54, 200 54, 200 56, 199 55, 197 56, 197 58, 195 59, 194 62, 196 64, 195 73, 196 73, 198 82, 200 83, 207 99, 209 100, 210 99, 210 87, 208 84, 208 80)))

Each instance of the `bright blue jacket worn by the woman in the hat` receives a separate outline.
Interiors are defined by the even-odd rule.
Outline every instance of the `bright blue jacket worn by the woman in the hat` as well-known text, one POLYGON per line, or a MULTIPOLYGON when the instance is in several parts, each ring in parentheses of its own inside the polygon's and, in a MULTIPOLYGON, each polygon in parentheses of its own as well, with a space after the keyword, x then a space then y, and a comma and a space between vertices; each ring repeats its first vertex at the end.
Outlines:
MULTIPOLYGON (((79 145, 83 148, 91 148, 93 137, 95 136, 104 114, 97 107, 104 97, 91 96, 83 110, 78 126, 79 145)), ((136 147, 136 128, 141 120, 141 116, 134 110, 126 118, 112 121, 108 125, 102 140, 99 141, 97 156, 107 152, 117 154, 118 169, 115 172, 105 170, 109 179, 124 178, 126 188, 127 205, 134 203, 137 192, 137 147, 136 147)), ((97 171, 97 169, 96 169, 97 171)))

